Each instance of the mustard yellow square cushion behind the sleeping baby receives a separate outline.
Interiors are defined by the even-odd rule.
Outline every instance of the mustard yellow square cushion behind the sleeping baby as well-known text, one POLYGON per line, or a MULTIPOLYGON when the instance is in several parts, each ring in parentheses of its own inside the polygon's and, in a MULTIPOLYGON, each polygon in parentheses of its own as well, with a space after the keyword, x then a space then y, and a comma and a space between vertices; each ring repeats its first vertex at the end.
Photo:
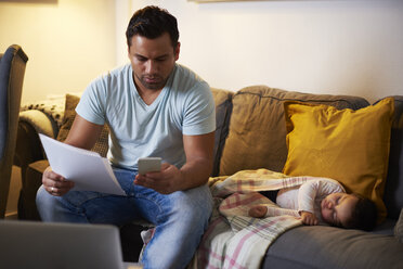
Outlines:
POLYGON ((288 156, 283 172, 338 180, 348 192, 373 200, 384 220, 393 99, 358 111, 284 103, 288 156))

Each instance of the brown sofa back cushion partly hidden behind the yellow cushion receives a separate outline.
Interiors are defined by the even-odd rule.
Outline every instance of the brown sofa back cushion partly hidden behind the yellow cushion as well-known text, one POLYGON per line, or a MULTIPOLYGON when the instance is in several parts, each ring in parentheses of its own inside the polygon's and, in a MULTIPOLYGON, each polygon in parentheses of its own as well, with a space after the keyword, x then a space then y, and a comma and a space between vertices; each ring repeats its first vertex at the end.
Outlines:
POLYGON ((283 170, 287 157, 283 107, 286 100, 327 104, 339 110, 368 105, 365 99, 358 97, 290 92, 266 86, 244 88, 233 97, 219 175, 257 168, 283 170))

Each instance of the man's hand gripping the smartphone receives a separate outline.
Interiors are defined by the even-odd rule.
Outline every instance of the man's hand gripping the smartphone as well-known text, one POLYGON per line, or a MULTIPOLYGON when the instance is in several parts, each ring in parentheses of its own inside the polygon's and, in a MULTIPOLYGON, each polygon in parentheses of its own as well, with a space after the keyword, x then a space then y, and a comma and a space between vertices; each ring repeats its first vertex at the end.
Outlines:
POLYGON ((153 189, 161 194, 169 194, 182 190, 182 172, 168 163, 161 164, 160 171, 151 171, 145 175, 136 175, 134 183, 153 189))

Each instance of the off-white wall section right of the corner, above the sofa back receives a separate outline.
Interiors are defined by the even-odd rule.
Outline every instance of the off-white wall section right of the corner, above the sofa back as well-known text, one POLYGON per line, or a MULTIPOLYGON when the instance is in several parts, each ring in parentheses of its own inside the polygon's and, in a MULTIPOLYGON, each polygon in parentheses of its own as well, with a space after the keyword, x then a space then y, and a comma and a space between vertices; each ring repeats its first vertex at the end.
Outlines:
POLYGON ((147 4, 177 16, 179 62, 212 87, 263 84, 370 102, 403 94, 401 0, 131 1, 132 11, 147 4))

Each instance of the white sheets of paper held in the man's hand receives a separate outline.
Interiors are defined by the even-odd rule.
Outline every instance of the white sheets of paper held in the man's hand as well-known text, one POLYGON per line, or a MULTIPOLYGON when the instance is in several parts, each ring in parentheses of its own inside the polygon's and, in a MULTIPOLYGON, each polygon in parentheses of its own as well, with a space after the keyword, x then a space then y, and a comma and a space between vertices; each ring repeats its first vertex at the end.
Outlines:
POLYGON ((73 190, 126 196, 109 162, 99 153, 65 144, 41 133, 39 138, 52 170, 74 181, 73 190))

